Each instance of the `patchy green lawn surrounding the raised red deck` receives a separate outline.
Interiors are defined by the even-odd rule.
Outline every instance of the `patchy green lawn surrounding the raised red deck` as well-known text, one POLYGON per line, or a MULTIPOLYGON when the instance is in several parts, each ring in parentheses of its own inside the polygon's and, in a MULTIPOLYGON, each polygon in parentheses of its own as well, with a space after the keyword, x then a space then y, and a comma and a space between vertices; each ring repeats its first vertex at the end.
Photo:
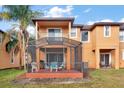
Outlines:
POLYGON ((15 84, 12 81, 21 70, 7 69, 0 71, 0 87, 124 87, 124 69, 102 69, 90 71, 90 80, 78 84, 15 84))

